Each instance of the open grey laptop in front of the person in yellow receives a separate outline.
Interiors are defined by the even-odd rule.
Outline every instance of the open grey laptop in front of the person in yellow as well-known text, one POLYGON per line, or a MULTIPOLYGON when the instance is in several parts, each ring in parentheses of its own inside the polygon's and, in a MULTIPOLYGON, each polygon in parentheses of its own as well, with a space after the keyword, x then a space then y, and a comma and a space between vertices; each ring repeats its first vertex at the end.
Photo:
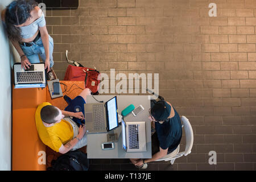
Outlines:
POLYGON ((107 102, 84 104, 87 133, 105 133, 118 127, 117 96, 107 102))

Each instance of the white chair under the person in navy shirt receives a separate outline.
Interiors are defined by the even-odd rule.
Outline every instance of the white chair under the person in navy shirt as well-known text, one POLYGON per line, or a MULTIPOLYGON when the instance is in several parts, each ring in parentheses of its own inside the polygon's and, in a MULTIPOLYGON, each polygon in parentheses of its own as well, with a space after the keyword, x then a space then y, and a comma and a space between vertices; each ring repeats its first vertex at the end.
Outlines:
POLYGON ((158 159, 156 161, 161 161, 161 160, 164 160, 164 161, 168 161, 168 160, 171 160, 171 164, 174 164, 174 161, 175 159, 177 158, 180 158, 181 156, 187 156, 188 154, 191 153, 191 148, 193 146, 193 140, 194 140, 194 137, 193 137, 193 130, 192 130, 192 127, 188 121, 188 119, 184 116, 181 117, 181 121, 183 123, 182 127, 184 127, 184 131, 185 131, 185 137, 186 137, 186 147, 185 147, 185 151, 183 152, 179 152, 180 150, 180 145, 177 146, 177 148, 171 152, 170 154, 167 154, 166 156, 164 156, 163 158, 161 159, 158 159))

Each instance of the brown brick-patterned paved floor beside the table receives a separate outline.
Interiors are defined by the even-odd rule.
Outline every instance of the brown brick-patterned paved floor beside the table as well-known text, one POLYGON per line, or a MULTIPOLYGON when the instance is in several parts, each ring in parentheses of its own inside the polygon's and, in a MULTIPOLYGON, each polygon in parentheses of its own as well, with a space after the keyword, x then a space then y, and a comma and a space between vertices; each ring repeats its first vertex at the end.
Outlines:
POLYGON ((195 134, 177 169, 256 169, 256 1, 80 0, 46 20, 59 78, 66 49, 102 73, 159 73, 160 95, 195 134))

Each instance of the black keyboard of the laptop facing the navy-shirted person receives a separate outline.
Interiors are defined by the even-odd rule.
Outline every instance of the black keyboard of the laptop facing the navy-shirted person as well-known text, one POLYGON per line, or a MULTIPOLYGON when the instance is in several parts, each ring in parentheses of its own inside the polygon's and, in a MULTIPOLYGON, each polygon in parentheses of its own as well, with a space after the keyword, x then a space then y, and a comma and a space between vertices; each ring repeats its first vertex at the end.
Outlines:
POLYGON ((129 149, 139 148, 139 132, 138 125, 128 125, 129 133, 129 149))

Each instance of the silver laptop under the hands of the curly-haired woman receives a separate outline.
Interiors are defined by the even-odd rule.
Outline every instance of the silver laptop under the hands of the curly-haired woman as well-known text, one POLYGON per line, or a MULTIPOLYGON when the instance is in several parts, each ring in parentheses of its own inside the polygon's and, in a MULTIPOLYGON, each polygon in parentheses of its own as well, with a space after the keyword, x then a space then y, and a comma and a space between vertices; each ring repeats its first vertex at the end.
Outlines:
POLYGON ((24 69, 20 63, 13 65, 14 88, 45 88, 46 71, 44 63, 31 64, 30 68, 24 69))

